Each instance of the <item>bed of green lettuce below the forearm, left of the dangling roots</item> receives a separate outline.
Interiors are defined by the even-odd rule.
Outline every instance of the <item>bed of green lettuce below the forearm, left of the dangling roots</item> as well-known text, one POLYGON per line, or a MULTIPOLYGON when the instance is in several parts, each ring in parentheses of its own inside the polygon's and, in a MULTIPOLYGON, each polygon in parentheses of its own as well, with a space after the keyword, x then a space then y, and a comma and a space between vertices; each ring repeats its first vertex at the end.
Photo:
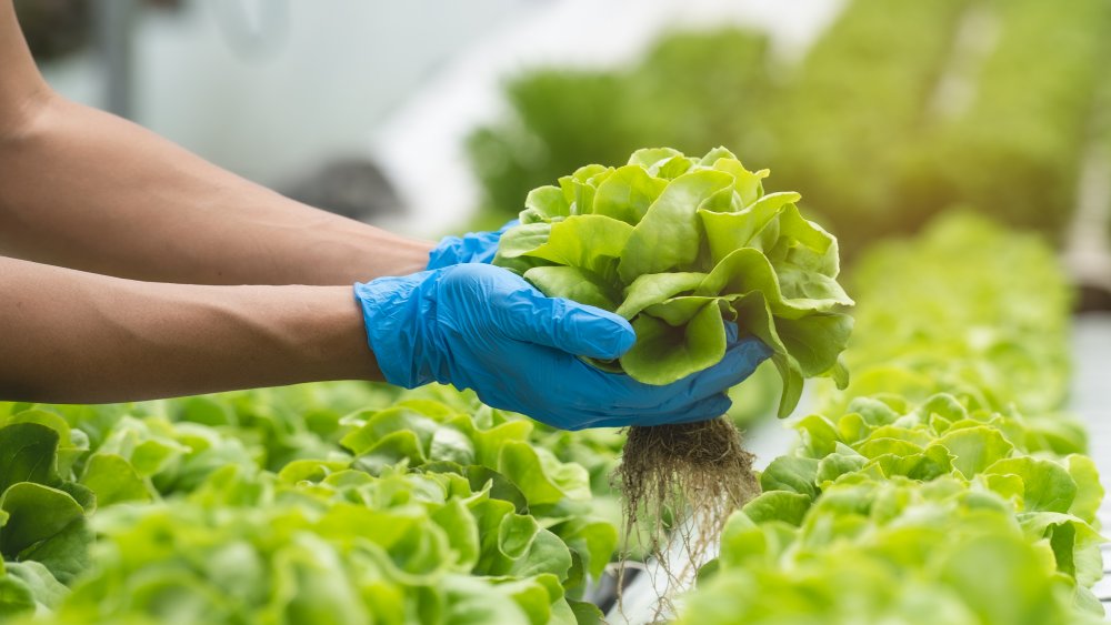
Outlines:
POLYGON ((419 607, 449 621, 592 621, 597 608, 580 598, 609 563, 617 528, 594 515, 587 471, 536 446, 532 427, 450 389, 399 397, 317 384, 108 406, 0 404, 0 475, 18 477, 0 504, 11 511, 0 513, 0 545, 11 546, 0 616, 57 608, 54 618, 73 622, 236 622, 259 609, 296 619, 302 602, 334 598, 340 612, 314 604, 322 612, 307 614, 390 622, 419 607), (373 407, 337 410, 359 405, 373 407), (384 525, 360 525, 378 512, 384 525), (376 542, 376 527, 403 523, 431 536, 397 547, 424 554, 420 579, 389 566, 388 537, 376 542), (251 543, 267 527, 286 530, 251 543), (378 546, 349 548, 357 534, 378 546), (226 551, 267 563, 266 574, 221 569, 226 551), (306 560, 310 552, 323 560, 306 560), (197 564, 204 557, 214 564, 197 564), (302 579, 331 564, 370 585, 302 579), (254 589, 243 597, 246 588, 254 589))

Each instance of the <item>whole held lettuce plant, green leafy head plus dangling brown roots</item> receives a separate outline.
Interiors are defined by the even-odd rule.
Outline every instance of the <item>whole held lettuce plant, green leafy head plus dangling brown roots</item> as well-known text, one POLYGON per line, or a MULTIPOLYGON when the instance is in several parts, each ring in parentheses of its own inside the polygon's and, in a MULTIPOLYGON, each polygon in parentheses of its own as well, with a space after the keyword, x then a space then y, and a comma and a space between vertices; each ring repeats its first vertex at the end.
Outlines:
MULTIPOLYGON (((531 191, 494 264, 550 296, 628 319, 632 349, 597 366, 669 384, 721 361, 728 323, 772 350, 780 416, 805 377, 848 384, 840 363, 852 300, 837 282, 837 240, 804 219, 798 193, 765 193, 724 148, 689 158, 633 152, 620 168, 579 168, 531 191)), ((752 456, 728 420, 631 427, 614 483, 623 495, 625 552, 662 560, 681 542, 689 563, 667 568, 661 599, 704 562, 729 513, 758 486, 752 456), (630 547, 630 540, 642 541, 630 547)))

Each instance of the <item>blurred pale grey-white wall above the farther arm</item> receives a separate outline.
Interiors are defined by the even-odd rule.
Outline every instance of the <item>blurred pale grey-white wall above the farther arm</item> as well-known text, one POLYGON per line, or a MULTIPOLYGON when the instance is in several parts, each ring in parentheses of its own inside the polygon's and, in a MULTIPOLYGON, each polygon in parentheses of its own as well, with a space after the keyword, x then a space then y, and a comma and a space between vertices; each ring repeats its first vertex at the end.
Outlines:
MULTIPOLYGON (((144 11, 136 121, 277 183, 336 151, 366 152, 374 127, 459 49, 543 3, 189 0, 179 13, 144 11), (252 28, 257 39, 233 36, 252 28)), ((67 95, 99 105, 100 70, 87 56, 44 73, 67 95)))

